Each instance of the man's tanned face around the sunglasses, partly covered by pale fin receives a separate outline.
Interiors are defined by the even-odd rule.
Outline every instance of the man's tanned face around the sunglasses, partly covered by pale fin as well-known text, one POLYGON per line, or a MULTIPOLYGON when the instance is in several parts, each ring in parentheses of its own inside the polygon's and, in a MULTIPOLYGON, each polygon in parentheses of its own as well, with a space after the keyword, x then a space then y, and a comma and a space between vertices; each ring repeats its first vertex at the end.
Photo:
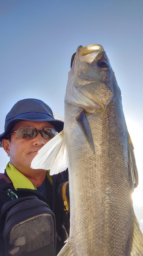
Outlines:
MULTIPOLYGON (((21 127, 34 127, 38 130, 43 128, 54 128, 50 122, 33 122, 21 121, 14 125, 11 132, 16 131, 21 127)), ((31 162, 37 155, 37 152, 43 147, 50 139, 45 139, 39 132, 35 138, 22 139, 17 138, 16 134, 11 135, 11 140, 3 140, 4 150, 10 157, 10 162, 23 174, 30 171, 31 162)))

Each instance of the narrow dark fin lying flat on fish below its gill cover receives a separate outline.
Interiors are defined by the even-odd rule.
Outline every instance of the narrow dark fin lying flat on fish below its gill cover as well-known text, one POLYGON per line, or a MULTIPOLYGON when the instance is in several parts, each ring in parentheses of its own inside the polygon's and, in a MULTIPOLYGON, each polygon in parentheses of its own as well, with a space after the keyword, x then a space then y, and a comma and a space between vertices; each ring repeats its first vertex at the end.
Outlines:
POLYGON ((94 141, 92 137, 91 128, 87 119, 87 116, 85 115, 85 112, 82 111, 79 116, 76 117, 76 121, 79 123, 85 137, 87 138, 89 145, 95 154, 95 147, 94 147, 94 141))

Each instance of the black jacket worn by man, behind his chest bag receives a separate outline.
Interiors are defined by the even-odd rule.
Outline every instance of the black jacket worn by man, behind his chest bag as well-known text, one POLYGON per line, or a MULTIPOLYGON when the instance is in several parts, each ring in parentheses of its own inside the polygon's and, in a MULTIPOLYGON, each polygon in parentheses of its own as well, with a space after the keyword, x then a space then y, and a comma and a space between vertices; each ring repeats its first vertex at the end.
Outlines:
MULTIPOLYGON (((5 175, 7 176, 6 172, 5 172, 5 175)), ((46 178, 46 194, 47 194, 46 198, 43 197, 38 190, 26 189, 26 188, 19 188, 15 190, 13 187, 13 184, 12 183, 9 184, 10 189, 18 196, 18 198, 26 197, 26 196, 36 196, 38 199, 46 202, 50 206, 50 209, 54 212, 55 222, 56 222, 56 234, 57 234, 56 254, 58 254, 58 252, 64 246, 64 242, 67 239, 65 229, 63 228, 64 217, 62 214, 59 195, 58 195, 58 186, 65 181, 68 181, 68 169, 60 174, 53 175, 52 184, 49 182, 48 178, 46 178)), ((1 179, 0 179, 0 211, 2 209, 2 206, 10 200, 11 198, 7 194, 7 188, 1 189, 1 179)), ((0 256, 1 256, 1 249, 0 249, 0 256)))

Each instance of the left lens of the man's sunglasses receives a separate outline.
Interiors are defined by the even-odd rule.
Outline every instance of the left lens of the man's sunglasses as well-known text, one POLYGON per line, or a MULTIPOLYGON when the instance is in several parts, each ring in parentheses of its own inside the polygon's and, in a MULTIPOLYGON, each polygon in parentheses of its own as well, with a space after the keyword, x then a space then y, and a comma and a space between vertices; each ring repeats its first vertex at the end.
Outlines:
POLYGON ((16 132, 16 137, 22 139, 32 139, 37 135, 34 128, 31 127, 23 127, 16 132))

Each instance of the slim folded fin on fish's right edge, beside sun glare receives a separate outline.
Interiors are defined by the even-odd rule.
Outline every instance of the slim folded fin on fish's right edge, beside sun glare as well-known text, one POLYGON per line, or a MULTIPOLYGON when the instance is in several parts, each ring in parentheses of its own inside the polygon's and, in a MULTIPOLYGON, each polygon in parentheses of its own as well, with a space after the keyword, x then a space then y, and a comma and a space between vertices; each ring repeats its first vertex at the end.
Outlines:
POLYGON ((133 184, 133 188, 135 188, 138 185, 138 172, 137 172, 136 161, 135 161, 135 156, 133 151, 134 147, 129 134, 128 134, 128 142, 129 142, 128 155, 129 155, 129 161, 131 165, 132 184, 133 184))

